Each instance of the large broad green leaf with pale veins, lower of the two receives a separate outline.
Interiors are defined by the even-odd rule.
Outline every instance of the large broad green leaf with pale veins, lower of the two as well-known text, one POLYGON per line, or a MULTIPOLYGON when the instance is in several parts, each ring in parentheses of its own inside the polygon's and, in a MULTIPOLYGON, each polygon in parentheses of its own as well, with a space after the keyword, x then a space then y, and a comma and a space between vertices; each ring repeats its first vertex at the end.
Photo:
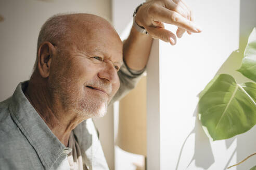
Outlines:
POLYGON ((254 82, 240 85, 230 75, 217 75, 199 97, 199 120, 213 140, 231 138, 256 124, 254 82))

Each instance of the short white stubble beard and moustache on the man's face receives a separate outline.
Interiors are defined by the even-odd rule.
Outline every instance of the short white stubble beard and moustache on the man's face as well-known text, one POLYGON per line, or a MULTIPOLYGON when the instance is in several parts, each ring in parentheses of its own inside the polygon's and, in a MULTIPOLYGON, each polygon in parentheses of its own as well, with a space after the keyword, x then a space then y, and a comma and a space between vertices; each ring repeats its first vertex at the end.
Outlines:
MULTIPOLYGON (((85 119, 105 116, 108 108, 108 97, 90 91, 86 89, 87 87, 83 87, 84 89, 75 87, 73 84, 76 84, 76 80, 62 78, 58 81, 52 81, 50 83, 51 92, 58 95, 67 111, 76 112, 85 119)), ((93 80, 88 83, 112 91, 112 84, 93 80)))

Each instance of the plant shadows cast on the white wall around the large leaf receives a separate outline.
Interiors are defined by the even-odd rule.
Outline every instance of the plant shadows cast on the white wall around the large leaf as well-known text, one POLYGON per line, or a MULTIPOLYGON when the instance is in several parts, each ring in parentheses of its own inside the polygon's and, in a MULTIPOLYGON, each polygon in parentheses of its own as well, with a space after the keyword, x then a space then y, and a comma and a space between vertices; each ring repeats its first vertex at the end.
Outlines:
MULTIPOLYGON (((249 37, 249 34, 248 34, 249 37)), ((248 38, 247 37, 247 38, 248 38)), ((241 43, 241 42, 240 42, 241 43)), ((247 44, 247 41, 244 41, 245 45, 247 44)), ((242 45, 242 47, 245 47, 245 45, 242 45)), ((216 75, 219 74, 229 74, 232 75, 235 80, 238 83, 242 82, 248 82, 251 81, 250 79, 244 77, 241 75, 241 73, 237 72, 236 70, 240 68, 242 58, 244 56, 244 49, 243 50, 235 50, 229 55, 228 59, 224 62, 224 64, 220 67, 220 69, 217 71, 216 75)), ((201 167, 203 169, 208 169, 213 163, 214 163, 214 156, 210 144, 210 139, 208 136, 204 133, 202 129, 202 125, 200 120, 198 119, 198 105, 196 106, 196 109, 194 111, 194 117, 195 119, 195 127, 194 129, 188 134, 186 139, 184 140, 184 143, 182 145, 180 155, 178 157, 176 170, 178 169, 178 165, 180 163, 181 155, 183 152, 183 148, 186 144, 187 139, 190 135, 195 133, 195 153, 193 155, 193 158, 191 159, 190 163, 187 165, 187 168, 189 165, 195 160, 195 164, 197 167, 201 167), (208 161, 205 161, 205 157, 208 157, 208 161)), ((246 133, 250 133, 248 135, 244 135, 242 138, 238 135, 236 137, 232 137, 225 140, 226 149, 228 149, 235 139, 237 139, 237 148, 232 153, 231 157, 227 160, 227 163, 225 165, 224 169, 227 169, 229 163, 231 162, 232 158, 234 157, 235 153, 237 152, 237 162, 240 162, 242 159, 244 159, 247 155, 251 154, 250 149, 253 148, 255 145, 253 141, 251 141, 251 136, 255 134, 255 130, 253 132, 253 129, 251 131, 248 131, 246 133), (248 141, 251 141, 251 144, 248 141), (247 146, 247 147, 246 147, 247 146), (248 149, 246 149, 248 148, 248 149)), ((237 170, 244 170, 245 167, 237 167, 237 170), (242 168, 242 169, 240 169, 242 168)), ((248 167, 249 169, 250 167, 248 167)))

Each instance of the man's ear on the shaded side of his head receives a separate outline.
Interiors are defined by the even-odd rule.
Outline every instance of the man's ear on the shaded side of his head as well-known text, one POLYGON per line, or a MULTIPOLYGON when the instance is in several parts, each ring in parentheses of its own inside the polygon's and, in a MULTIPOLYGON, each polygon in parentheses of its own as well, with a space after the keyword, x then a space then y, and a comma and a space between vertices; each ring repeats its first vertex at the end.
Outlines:
POLYGON ((47 78, 50 74, 50 63, 56 49, 52 43, 43 42, 37 52, 39 73, 43 78, 47 78))

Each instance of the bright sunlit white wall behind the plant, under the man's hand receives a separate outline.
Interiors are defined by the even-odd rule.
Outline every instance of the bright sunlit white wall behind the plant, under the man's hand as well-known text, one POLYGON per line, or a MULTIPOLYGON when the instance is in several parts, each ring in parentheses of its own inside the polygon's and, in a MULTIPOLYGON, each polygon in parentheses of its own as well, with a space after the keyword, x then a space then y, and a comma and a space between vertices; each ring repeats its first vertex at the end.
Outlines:
MULTIPOLYGON (((245 39, 256 26, 255 17, 250 17, 256 16, 256 1, 186 2, 203 32, 185 35, 176 46, 154 42, 147 69, 147 167, 226 169, 256 151, 256 126, 231 139, 210 141, 198 120, 198 94, 215 74, 248 81, 235 69, 240 67, 245 39)), ((232 169, 250 169, 255 162, 252 157, 232 169)))

